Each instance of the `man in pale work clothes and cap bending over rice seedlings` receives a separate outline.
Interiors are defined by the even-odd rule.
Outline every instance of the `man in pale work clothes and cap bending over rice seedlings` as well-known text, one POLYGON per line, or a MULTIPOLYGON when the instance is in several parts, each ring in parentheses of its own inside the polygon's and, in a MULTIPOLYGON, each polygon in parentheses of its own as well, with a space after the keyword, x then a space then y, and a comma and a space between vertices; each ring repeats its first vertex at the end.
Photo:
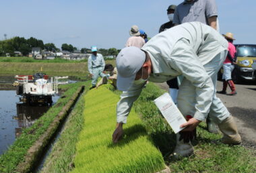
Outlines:
MULTIPOLYGON (((228 42, 212 27, 200 22, 187 22, 154 36, 141 49, 123 48, 117 56, 117 88, 124 91, 117 103, 117 128, 113 142, 121 139, 123 124, 133 102, 139 97, 147 80, 165 82, 179 75, 181 82, 178 107, 191 115, 181 133, 177 133, 174 156, 190 156, 193 146, 187 135, 212 115, 223 133, 222 143, 239 144, 236 123, 216 97, 217 73, 226 58, 228 42), (186 139, 186 140, 185 140, 186 139)), ((191 139, 191 136, 189 137, 191 139)))

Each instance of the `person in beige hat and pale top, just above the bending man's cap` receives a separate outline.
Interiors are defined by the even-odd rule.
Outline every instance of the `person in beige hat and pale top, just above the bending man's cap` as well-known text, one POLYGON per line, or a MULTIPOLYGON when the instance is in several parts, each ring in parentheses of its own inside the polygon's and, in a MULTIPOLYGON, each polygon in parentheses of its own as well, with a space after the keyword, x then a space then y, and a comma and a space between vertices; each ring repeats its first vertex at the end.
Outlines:
POLYGON ((135 46, 137 48, 141 48, 145 44, 145 40, 141 38, 139 27, 137 25, 133 25, 131 30, 129 31, 130 38, 128 38, 125 47, 135 46))

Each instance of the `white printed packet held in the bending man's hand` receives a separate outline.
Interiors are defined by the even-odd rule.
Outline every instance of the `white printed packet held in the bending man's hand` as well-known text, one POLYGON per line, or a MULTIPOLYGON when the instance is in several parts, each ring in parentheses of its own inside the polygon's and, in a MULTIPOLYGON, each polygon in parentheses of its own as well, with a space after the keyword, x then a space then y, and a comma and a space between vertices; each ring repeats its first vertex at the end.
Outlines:
POLYGON ((180 126, 183 123, 186 123, 186 119, 181 114, 181 111, 177 108, 177 106, 173 103, 172 98, 168 93, 164 93, 160 97, 154 100, 154 103, 158 107, 158 109, 161 111, 162 115, 172 127, 172 130, 174 133, 178 133, 183 128, 180 126))

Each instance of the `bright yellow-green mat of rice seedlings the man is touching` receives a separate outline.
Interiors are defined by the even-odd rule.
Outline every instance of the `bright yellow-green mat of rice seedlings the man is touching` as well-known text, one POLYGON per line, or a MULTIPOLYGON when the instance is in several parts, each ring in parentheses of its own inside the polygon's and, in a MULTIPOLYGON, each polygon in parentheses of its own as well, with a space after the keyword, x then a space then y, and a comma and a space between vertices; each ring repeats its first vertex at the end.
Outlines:
POLYGON ((129 124, 124 127, 123 139, 113 144, 118 100, 119 97, 106 87, 93 89, 85 96, 85 123, 76 144, 73 172, 157 172, 164 169, 162 155, 133 110, 129 124))

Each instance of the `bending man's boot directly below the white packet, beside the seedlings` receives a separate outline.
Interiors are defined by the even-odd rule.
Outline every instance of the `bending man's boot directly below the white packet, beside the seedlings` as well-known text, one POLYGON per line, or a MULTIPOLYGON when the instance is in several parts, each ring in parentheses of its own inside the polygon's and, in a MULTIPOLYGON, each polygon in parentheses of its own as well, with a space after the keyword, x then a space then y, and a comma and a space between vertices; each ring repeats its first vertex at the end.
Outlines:
POLYGON ((175 159, 191 156, 194 153, 194 148, 191 142, 189 141, 188 143, 185 143, 183 139, 179 141, 179 138, 180 138, 180 134, 177 133, 176 134, 177 143, 172 156, 175 159))

